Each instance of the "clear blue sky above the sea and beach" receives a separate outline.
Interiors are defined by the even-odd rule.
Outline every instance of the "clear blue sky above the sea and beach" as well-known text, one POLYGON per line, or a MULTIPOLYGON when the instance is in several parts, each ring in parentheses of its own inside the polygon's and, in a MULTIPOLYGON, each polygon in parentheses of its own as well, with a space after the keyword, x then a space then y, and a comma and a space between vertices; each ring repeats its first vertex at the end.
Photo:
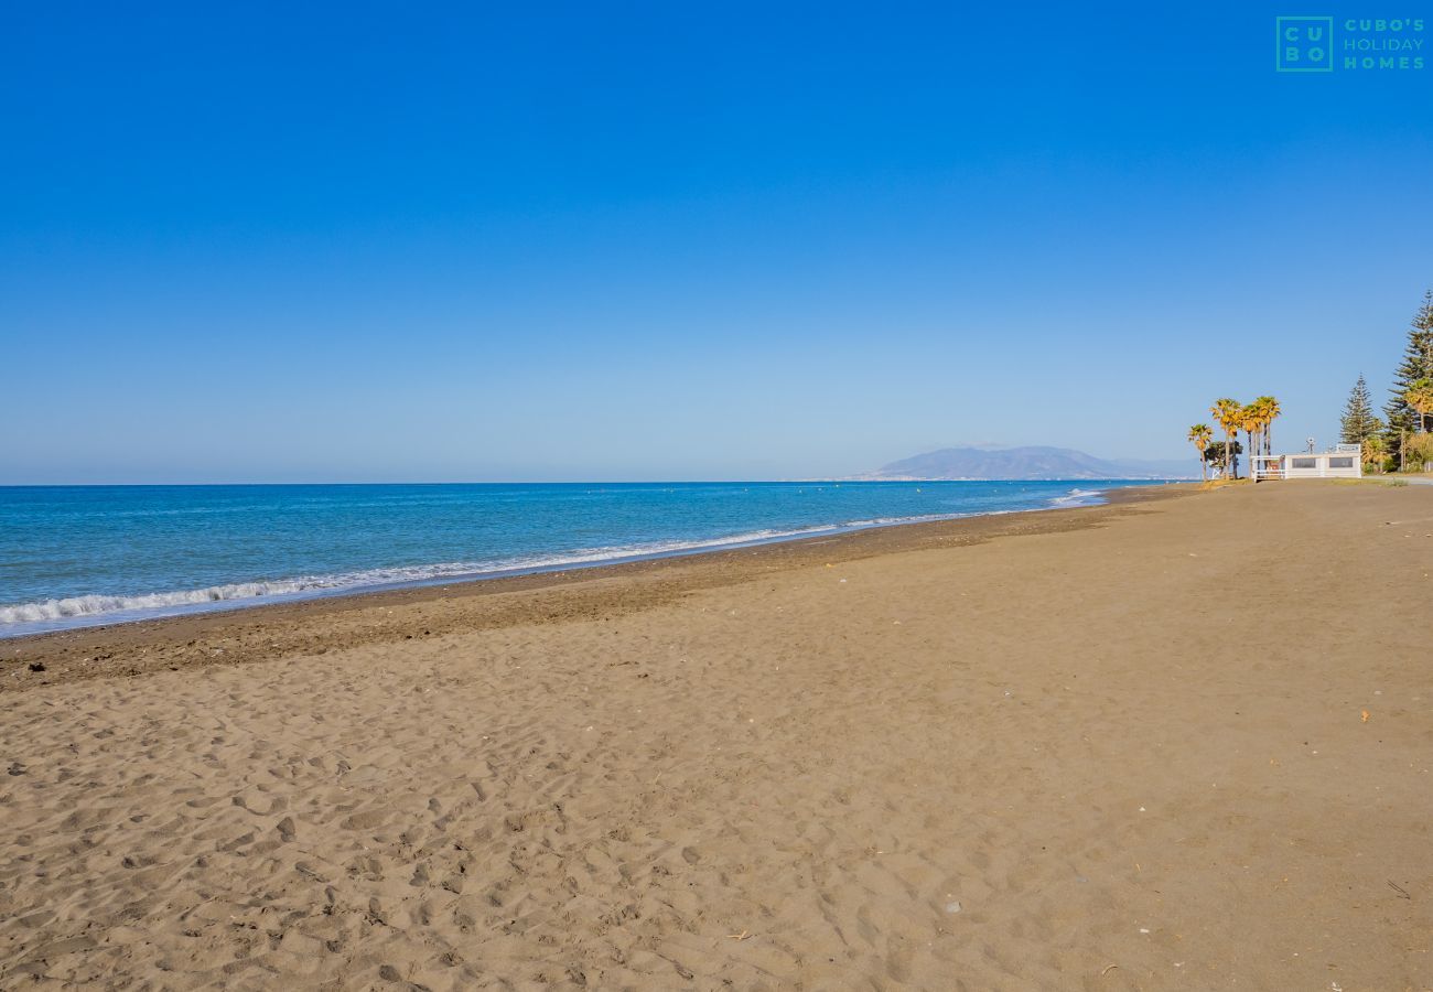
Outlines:
POLYGON ((1277 73, 1307 6, 4 4, 0 483, 1337 440, 1433 65, 1277 73))

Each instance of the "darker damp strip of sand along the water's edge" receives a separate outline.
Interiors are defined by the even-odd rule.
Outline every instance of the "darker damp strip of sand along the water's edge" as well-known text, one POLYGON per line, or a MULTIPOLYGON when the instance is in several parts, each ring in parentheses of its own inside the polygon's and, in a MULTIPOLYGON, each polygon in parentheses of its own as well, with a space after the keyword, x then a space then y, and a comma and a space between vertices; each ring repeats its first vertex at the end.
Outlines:
MULTIPOLYGON (((291 599, 265 601, 221 601, 214 608, 193 609, 181 614, 142 619, 109 621, 69 626, 56 631, 33 634, 0 635, 0 692, 29 684, 54 684, 70 678, 96 678, 109 674, 139 674, 160 667, 160 664, 193 664, 195 661, 218 664, 242 664, 259 657, 254 644, 257 635, 269 621, 310 622, 325 616, 347 615, 354 611, 381 611, 397 606, 414 609, 423 604, 441 599, 469 601, 504 593, 543 592, 572 589, 585 583, 600 583, 606 579, 662 581, 663 566, 671 566, 675 576, 705 588, 714 576, 688 575, 689 563, 712 562, 714 572, 724 573, 715 583, 739 582, 742 566, 754 568, 798 568, 811 555, 850 561, 871 555, 920 548, 949 546, 956 543, 979 543, 1009 533, 1043 533, 1062 530, 1068 526, 1095 526, 1101 516, 1079 518, 1101 510, 1118 512, 1131 505, 1188 495, 1198 490, 1198 483, 1172 482, 1165 485, 1118 486, 1098 490, 1099 503, 1078 506, 1049 506, 1030 510, 1000 510, 969 516, 950 516, 936 520, 877 523, 870 526, 823 530, 820 533, 791 538, 774 538, 731 546, 701 548, 669 553, 639 555, 618 561, 576 563, 523 569, 514 573, 454 576, 421 579, 393 586, 351 588, 324 591, 315 595, 291 599), (1070 518, 1062 525, 1060 518, 1070 518), (1036 520, 1029 525, 1027 522, 1036 520), (947 530, 949 529, 949 530, 947 530), (890 535, 890 536, 886 536, 890 535), (810 552, 811 548, 837 543, 810 552), (755 559, 752 559, 755 556, 755 559), (727 573, 727 572, 731 573, 727 573), (234 605, 229 605, 232 602, 234 605), (215 641, 224 647, 212 648, 201 641, 215 641), (139 651, 143 658, 132 658, 126 664, 119 659, 139 651), (221 654, 212 654, 212 652, 221 654), (226 658, 224 655, 228 655, 226 658), (43 664, 43 672, 27 672, 14 662, 43 664)), ((559 612, 560 608, 559 608, 559 612)), ((378 629, 385 625, 374 624, 378 629)), ((483 625, 486 626, 486 624, 483 625)), ((470 628, 480 629, 480 628, 470 628)), ((400 636, 433 636, 431 624, 421 635, 403 629, 400 636)), ((272 648, 265 642, 265 648, 272 648)), ((308 638, 295 638, 292 651, 317 651, 327 648, 308 638)), ((262 655, 272 657, 272 655, 262 655)))

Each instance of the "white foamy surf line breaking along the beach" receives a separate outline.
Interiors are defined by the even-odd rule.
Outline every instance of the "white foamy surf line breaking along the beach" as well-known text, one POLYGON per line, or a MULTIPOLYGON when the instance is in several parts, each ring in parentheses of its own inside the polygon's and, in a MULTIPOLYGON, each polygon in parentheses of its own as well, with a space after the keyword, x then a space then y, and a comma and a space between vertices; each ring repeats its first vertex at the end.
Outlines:
MULTIPOLYGON (((1050 506, 1070 506, 1076 500, 1098 497, 1098 490, 1072 489, 1065 496, 1049 500, 1050 506)), ((986 510, 974 513, 927 513, 921 516, 873 518, 845 523, 797 528, 791 530, 752 530, 729 538, 706 540, 662 540, 641 545, 590 548, 560 555, 533 555, 524 558, 496 559, 487 562, 440 562, 437 565, 413 565, 401 568, 375 568, 335 575, 307 575, 287 579, 257 582, 235 582, 214 585, 203 589, 178 589, 172 592, 146 592, 139 595, 85 595, 63 599, 0 606, 0 638, 37 634, 42 631, 70 629, 95 624, 171 616, 202 609, 257 605, 252 601, 285 601, 320 596, 327 593, 354 592, 404 585, 426 585, 444 579, 480 579, 503 575, 559 571, 582 565, 613 563, 643 558, 662 558, 701 550, 718 550, 744 545, 762 545, 815 535, 844 533, 870 528, 894 526, 900 523, 926 523, 953 520, 969 516, 997 516, 1026 510, 986 510)))

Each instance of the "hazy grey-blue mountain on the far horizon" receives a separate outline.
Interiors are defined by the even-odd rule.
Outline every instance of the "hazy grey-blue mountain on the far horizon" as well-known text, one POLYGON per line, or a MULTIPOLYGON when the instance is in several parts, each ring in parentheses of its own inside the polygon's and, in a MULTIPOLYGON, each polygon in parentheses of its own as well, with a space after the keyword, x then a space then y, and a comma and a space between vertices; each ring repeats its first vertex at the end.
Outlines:
POLYGON ((944 447, 891 462, 863 479, 1192 479, 1195 459, 1098 459, 1069 447, 944 447))

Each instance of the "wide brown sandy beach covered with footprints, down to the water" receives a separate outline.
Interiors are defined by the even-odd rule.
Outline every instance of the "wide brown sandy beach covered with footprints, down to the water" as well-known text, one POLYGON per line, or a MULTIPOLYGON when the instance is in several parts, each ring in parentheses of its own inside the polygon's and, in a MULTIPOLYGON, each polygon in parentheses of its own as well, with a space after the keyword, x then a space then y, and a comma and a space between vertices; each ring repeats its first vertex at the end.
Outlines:
POLYGON ((1169 496, 0 645, 0 988, 1433 988, 1433 490, 1169 496))

